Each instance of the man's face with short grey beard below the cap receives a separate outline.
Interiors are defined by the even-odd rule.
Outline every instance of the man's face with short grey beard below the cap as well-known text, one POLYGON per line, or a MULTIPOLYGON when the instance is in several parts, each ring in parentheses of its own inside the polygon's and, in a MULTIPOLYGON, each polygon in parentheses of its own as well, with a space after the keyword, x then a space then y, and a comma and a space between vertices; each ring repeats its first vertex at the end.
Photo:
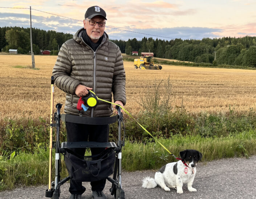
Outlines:
POLYGON ((84 28, 86 29, 86 33, 92 39, 93 43, 97 43, 99 41, 99 38, 104 33, 105 26, 104 27, 99 27, 98 23, 95 26, 92 26, 92 25, 89 24, 88 20, 96 21, 96 22, 105 22, 105 19, 101 16, 95 16, 91 19, 84 20, 84 28))

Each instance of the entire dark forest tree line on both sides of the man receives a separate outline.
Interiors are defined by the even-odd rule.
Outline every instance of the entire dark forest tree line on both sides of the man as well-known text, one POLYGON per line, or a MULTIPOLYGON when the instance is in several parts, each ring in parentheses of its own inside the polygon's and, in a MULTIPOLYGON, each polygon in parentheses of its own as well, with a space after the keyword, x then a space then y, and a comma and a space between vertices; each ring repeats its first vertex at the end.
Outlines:
MULTIPOLYGON (((72 34, 57 33, 54 30, 40 30, 32 28, 33 51, 40 54, 40 50, 58 50, 61 45, 71 39, 72 34)), ((132 51, 154 52, 158 58, 176 59, 196 63, 213 63, 227 65, 243 65, 256 67, 256 37, 241 38, 203 38, 161 40, 144 37, 124 40, 110 40, 117 44, 122 53, 131 54, 132 51), (216 57, 216 60, 215 60, 216 57)), ((30 51, 30 29, 23 27, 0 27, 0 50, 8 52, 17 49, 18 53, 26 54, 30 51), (2 49, 3 48, 3 49, 2 49)))

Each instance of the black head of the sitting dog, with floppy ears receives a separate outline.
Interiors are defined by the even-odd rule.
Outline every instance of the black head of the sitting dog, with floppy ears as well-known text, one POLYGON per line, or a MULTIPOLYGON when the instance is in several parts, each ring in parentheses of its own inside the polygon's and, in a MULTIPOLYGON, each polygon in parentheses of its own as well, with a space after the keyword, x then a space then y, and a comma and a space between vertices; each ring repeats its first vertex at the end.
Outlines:
POLYGON ((202 160, 203 157, 202 153, 194 149, 187 149, 179 152, 179 154, 182 160, 184 160, 187 164, 190 164, 192 167, 195 167, 196 163, 202 160))

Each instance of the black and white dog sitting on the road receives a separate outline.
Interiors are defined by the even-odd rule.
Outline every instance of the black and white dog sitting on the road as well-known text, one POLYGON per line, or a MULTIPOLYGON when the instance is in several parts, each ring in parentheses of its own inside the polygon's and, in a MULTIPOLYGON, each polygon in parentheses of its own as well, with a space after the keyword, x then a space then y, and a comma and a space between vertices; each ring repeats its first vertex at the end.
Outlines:
POLYGON ((178 194, 182 194, 183 184, 187 184, 188 191, 196 191, 192 187, 195 174, 196 163, 202 159, 202 153, 189 149, 180 152, 182 160, 171 162, 164 165, 155 173, 155 179, 145 177, 142 187, 151 189, 159 185, 165 191, 170 191, 170 188, 177 189, 178 194))

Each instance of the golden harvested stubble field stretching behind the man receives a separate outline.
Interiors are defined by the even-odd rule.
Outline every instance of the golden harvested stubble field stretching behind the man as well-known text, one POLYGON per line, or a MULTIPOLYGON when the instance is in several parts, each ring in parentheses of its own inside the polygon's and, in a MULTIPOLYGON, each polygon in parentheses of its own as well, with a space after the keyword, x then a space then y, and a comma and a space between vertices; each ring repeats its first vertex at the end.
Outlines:
MULTIPOLYGON (((57 56, 35 56, 38 70, 15 68, 31 64, 29 55, 0 54, 0 121, 42 117, 50 112, 50 77, 57 56)), ((134 69, 124 62, 126 70, 127 104, 125 108, 136 115, 141 96, 161 80, 171 82, 171 106, 183 106, 189 113, 201 111, 228 113, 229 107, 238 113, 255 107, 256 70, 179 67, 163 65, 162 70, 134 69)), ((56 89, 54 104, 65 103, 65 93, 56 89)), ((164 84, 160 84, 162 96, 164 84)), ((63 111, 63 110, 62 110, 63 111)))

